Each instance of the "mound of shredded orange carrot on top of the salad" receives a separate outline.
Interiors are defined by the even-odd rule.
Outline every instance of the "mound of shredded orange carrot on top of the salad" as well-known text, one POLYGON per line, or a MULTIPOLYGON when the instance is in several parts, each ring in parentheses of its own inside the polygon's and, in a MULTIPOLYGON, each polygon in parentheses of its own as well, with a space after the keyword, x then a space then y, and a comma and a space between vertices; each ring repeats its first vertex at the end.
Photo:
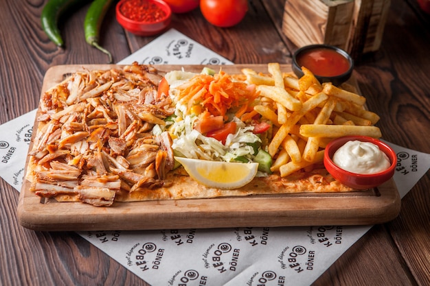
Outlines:
POLYGON ((225 116, 230 108, 237 109, 237 115, 241 116, 257 97, 254 88, 247 88, 245 82, 234 81, 223 71, 213 76, 194 75, 177 89, 179 102, 185 104, 188 111, 192 106, 200 105, 202 110, 214 116, 225 116))

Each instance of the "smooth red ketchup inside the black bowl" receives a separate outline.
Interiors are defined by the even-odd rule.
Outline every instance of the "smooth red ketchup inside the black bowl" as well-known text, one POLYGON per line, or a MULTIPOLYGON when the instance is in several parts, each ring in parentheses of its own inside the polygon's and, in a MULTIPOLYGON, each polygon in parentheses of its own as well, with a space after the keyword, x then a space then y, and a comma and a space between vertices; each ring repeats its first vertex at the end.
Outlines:
POLYGON ((319 48, 304 51, 297 58, 299 67, 306 67, 315 75, 335 76, 346 73, 350 69, 350 62, 347 58, 333 49, 319 48))

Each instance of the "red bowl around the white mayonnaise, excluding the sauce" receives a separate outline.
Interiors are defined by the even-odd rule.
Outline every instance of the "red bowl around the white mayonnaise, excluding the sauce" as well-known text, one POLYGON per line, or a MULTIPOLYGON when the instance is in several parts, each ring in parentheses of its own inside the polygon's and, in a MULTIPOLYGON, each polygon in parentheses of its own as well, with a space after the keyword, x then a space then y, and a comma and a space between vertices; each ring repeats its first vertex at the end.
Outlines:
POLYGON ((378 139, 367 136, 343 136, 334 139, 328 143, 326 150, 324 151, 324 167, 327 171, 342 184, 357 190, 371 189, 377 187, 383 182, 386 182, 394 175, 394 171, 397 164, 397 155, 389 145, 383 143, 378 139), (338 167, 332 160, 335 152, 348 141, 362 141, 374 143, 379 147, 379 150, 384 152, 389 158, 390 165, 387 169, 374 174, 357 174, 350 171, 346 171, 341 167, 338 167))

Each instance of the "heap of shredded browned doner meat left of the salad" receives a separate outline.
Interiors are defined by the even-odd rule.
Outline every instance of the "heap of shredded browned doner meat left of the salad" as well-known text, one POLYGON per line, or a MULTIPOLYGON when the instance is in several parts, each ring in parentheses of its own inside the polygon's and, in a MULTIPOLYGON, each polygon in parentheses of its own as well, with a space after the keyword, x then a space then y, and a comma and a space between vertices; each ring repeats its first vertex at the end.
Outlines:
POLYGON ((117 191, 166 184, 174 166, 168 132, 150 133, 172 115, 157 95, 161 75, 136 63, 82 71, 43 93, 30 152, 30 190, 110 206, 117 191))

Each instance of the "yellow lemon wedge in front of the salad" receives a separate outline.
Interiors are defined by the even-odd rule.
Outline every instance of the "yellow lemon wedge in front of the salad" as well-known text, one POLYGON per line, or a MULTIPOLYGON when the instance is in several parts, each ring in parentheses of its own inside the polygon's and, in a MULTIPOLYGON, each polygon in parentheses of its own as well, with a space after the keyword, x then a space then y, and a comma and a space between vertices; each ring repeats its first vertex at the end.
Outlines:
POLYGON ((227 163, 174 157, 191 178, 206 187, 238 189, 251 182, 258 171, 258 163, 227 163))

